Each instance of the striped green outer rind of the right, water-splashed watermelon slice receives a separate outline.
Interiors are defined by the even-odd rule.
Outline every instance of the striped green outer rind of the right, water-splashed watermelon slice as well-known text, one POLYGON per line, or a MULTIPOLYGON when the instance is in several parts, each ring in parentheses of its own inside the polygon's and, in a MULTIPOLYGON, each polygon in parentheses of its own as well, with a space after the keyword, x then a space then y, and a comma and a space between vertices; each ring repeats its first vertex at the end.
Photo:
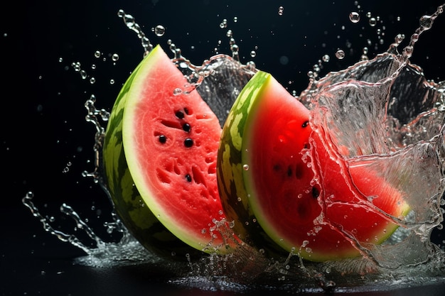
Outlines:
MULTIPOLYGON (((246 132, 246 121, 250 109, 257 104, 257 94, 272 77, 267 72, 258 71, 245 85, 230 109, 223 127, 218 150, 218 190, 225 215, 233 222, 235 234, 252 246, 265 252, 267 256, 285 255, 262 226, 259 225, 246 190, 245 170, 242 163, 242 144, 246 132)), ((248 132, 248 131, 247 131, 248 132)))

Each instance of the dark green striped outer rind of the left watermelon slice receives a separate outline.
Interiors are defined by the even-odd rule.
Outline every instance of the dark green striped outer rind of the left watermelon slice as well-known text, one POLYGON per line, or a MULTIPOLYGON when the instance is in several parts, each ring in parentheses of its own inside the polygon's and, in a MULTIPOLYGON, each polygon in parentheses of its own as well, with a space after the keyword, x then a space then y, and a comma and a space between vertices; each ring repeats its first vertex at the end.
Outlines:
POLYGON ((145 248, 160 256, 186 258, 186 254, 196 253, 195 250, 171 234, 146 205, 134 185, 122 141, 122 121, 129 91, 141 68, 153 64, 158 47, 137 65, 114 102, 104 136, 102 163, 114 209, 130 234, 145 248))

